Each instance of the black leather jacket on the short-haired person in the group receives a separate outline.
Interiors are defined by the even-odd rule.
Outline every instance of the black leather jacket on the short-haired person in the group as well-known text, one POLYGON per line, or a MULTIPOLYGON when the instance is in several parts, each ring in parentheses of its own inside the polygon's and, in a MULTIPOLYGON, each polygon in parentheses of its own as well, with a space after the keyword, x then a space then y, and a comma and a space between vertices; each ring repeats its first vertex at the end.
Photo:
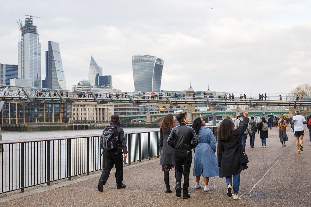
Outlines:
POLYGON ((180 124, 172 129, 167 143, 174 148, 174 151, 191 151, 192 148, 197 146, 199 140, 192 127, 188 127, 186 124, 180 124), (193 141, 192 144, 191 141, 193 141))

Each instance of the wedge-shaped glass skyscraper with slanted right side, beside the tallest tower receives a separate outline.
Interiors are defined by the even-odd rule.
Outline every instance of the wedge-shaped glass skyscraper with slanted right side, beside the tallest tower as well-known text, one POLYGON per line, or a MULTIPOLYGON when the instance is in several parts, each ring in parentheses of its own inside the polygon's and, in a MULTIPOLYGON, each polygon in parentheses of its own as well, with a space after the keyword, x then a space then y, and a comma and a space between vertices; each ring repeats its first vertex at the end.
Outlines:
POLYGON ((53 41, 49 41, 49 51, 45 51, 45 76, 45 88, 66 90, 59 44, 53 41))

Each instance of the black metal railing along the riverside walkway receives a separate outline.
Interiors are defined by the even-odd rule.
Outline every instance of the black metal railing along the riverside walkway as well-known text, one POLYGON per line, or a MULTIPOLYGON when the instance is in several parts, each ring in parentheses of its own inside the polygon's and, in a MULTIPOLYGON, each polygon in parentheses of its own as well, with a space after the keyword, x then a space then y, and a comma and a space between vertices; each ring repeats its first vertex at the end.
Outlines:
MULTIPOLYGON (((217 127, 209 127, 215 138, 217 127)), ((125 133, 124 164, 159 157, 158 131, 125 133)), ((88 174, 104 168, 101 135, 0 141, 0 194, 88 174)))

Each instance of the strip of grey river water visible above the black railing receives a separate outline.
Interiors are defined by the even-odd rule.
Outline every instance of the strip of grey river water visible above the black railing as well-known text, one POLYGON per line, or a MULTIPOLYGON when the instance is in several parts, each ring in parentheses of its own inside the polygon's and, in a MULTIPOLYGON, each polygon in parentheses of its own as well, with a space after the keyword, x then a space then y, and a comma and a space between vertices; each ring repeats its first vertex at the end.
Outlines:
MULTIPOLYGON (((159 128, 124 128, 124 132, 132 131, 153 131, 159 128)), ((84 136, 91 134, 101 134, 102 129, 90 130, 59 130, 59 131, 14 131, 2 132, 2 140, 21 140, 31 138, 47 138, 47 137, 62 137, 62 136, 84 136)))

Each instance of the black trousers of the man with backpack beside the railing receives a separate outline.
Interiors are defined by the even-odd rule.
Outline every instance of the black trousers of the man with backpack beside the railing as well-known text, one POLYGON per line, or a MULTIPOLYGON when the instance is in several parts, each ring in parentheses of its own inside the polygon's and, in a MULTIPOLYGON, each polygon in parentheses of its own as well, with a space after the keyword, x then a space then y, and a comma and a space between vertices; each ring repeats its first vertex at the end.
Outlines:
POLYGON ((105 168, 101 173, 100 180, 103 180, 103 184, 105 185, 110 171, 112 167, 115 165, 116 168, 116 182, 117 187, 121 187, 123 185, 123 156, 122 153, 106 153, 105 155, 105 168))

